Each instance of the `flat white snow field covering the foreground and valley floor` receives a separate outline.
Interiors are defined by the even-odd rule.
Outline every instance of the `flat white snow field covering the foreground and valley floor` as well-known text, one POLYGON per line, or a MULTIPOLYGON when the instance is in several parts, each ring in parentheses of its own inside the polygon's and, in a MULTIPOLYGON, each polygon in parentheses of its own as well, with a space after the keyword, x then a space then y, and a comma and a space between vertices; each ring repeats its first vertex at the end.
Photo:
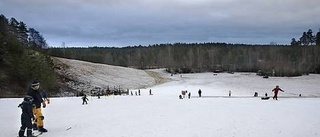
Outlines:
MULTIPOLYGON (((320 75, 263 79, 253 73, 170 76, 163 70, 152 71, 172 81, 140 89, 141 96, 89 97, 88 105, 81 105, 80 97, 52 98, 43 109, 49 132, 41 136, 320 136, 320 75), (285 91, 279 93, 277 101, 252 97, 254 92, 271 96, 276 85, 285 91), (153 95, 149 95, 150 89, 153 95), (199 89, 202 98, 197 97, 199 89), (192 98, 178 99, 181 90, 191 92, 192 98)), ((131 75, 130 71, 114 73, 131 75)), ((0 99, 1 137, 17 136, 21 114, 17 105, 21 101, 22 98, 0 99)))

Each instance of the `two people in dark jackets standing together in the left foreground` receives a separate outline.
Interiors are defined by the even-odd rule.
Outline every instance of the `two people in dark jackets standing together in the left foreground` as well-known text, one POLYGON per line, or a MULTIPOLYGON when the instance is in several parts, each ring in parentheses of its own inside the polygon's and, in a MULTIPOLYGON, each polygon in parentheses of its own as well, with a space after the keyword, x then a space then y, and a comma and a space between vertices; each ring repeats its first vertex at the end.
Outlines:
POLYGON ((24 133, 26 129, 27 137, 33 136, 32 130, 48 132, 48 130, 44 128, 44 116, 42 115, 41 106, 45 108, 47 104, 50 104, 50 99, 44 91, 40 91, 39 87, 39 82, 32 82, 23 102, 18 106, 22 109, 21 127, 18 133, 19 137, 25 137, 24 133))

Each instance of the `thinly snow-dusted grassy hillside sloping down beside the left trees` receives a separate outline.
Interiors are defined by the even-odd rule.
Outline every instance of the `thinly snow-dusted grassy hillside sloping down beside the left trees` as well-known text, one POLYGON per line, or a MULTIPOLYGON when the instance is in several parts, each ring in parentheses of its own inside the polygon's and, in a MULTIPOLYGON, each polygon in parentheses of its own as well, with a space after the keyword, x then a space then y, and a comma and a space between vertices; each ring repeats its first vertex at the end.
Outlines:
POLYGON ((72 80, 67 81, 68 86, 78 91, 90 91, 95 87, 139 89, 156 84, 155 78, 144 70, 64 58, 55 59, 59 62, 57 64, 65 65, 64 69, 58 71, 72 80))

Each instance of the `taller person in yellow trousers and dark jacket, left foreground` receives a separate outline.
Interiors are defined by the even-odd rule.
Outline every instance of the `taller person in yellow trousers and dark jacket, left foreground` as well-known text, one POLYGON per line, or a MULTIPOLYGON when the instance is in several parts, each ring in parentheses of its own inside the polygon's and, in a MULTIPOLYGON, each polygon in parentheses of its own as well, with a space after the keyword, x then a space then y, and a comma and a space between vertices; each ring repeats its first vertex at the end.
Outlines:
POLYGON ((47 129, 43 127, 44 116, 42 115, 41 104, 42 107, 46 107, 45 101, 42 99, 41 92, 39 91, 40 83, 37 81, 32 82, 27 95, 33 98, 32 101, 32 111, 35 117, 34 129, 37 129, 39 132, 48 132, 47 129))

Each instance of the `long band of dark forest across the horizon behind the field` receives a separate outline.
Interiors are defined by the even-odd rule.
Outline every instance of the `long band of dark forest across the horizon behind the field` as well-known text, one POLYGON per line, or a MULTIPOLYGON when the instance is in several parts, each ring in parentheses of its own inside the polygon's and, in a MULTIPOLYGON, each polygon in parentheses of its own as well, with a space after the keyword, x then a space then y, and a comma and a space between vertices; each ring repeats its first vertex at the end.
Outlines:
POLYGON ((259 72, 269 76, 320 73, 320 46, 175 43, 124 48, 50 48, 49 54, 172 73, 259 72))

